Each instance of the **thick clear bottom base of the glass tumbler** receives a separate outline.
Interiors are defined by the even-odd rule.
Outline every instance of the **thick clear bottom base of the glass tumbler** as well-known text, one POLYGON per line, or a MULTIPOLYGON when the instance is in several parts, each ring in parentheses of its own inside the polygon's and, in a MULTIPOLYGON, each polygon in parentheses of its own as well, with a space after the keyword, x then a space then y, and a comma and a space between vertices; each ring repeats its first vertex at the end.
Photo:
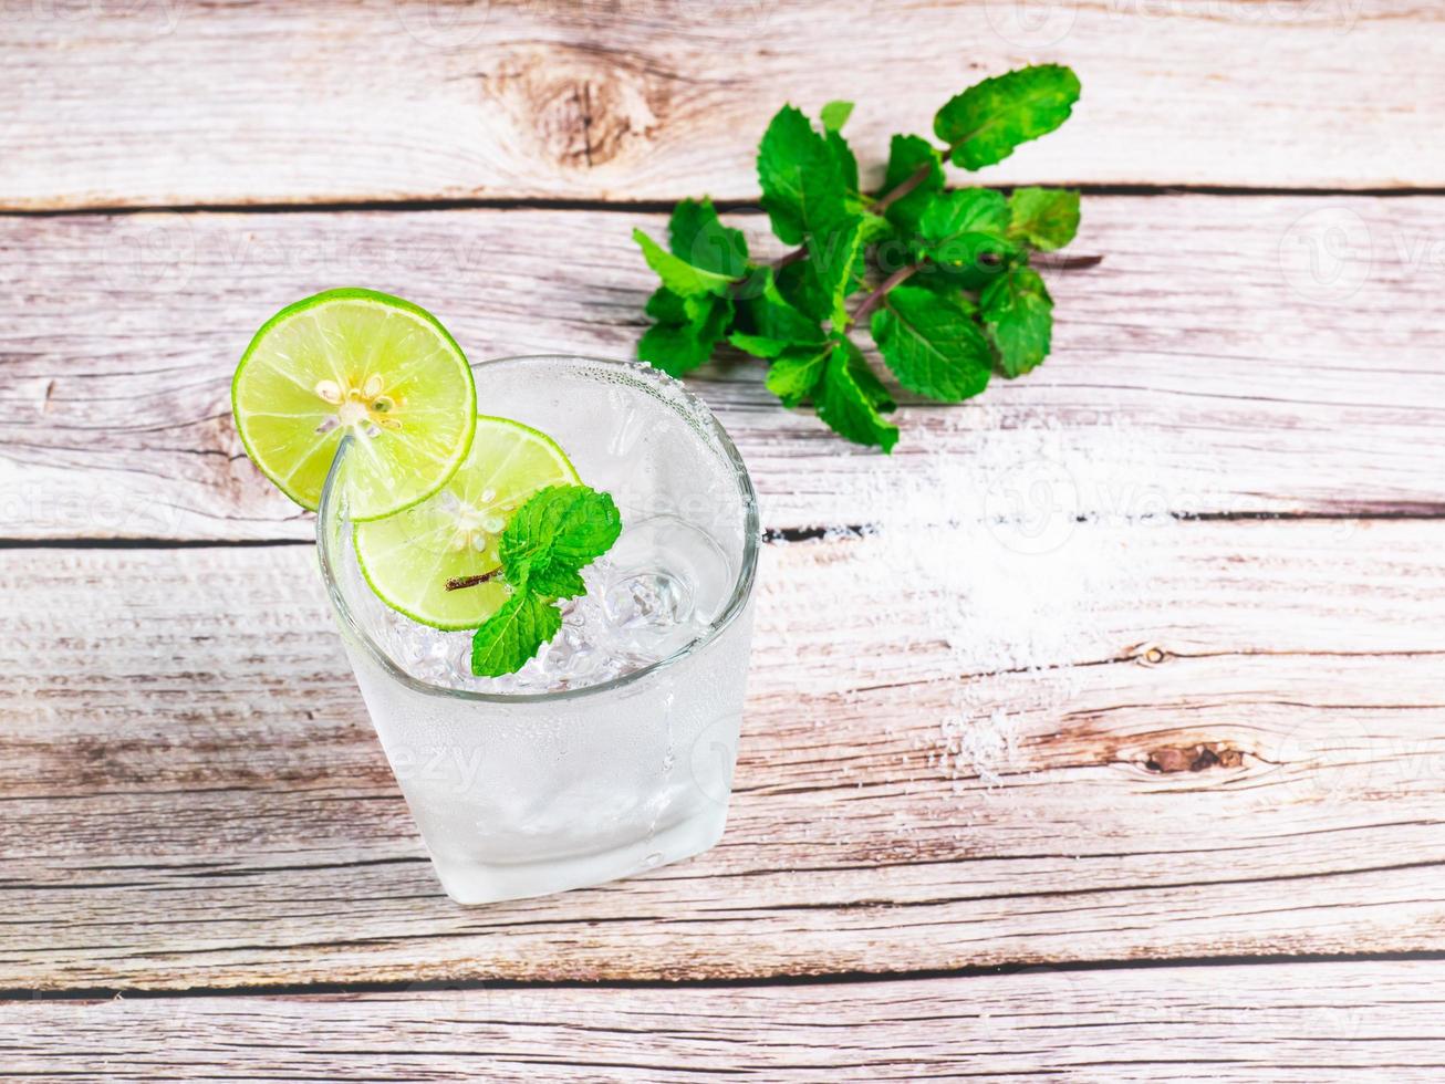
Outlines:
POLYGON ((722 838, 727 806, 708 804, 696 815, 659 830, 650 838, 571 859, 488 866, 447 861, 432 856, 432 869, 447 895, 458 903, 497 903, 504 899, 548 896, 646 873, 711 850, 722 838))

